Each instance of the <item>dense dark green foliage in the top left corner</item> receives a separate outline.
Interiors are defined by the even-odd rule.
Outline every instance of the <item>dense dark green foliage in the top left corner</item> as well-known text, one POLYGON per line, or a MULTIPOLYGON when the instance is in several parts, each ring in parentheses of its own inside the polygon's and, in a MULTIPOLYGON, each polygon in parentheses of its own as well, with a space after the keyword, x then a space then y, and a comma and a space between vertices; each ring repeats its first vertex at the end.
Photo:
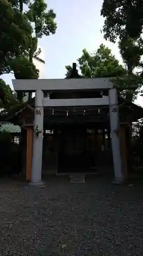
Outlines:
POLYGON ((22 56, 31 41, 32 27, 26 15, 22 15, 7 0, 0 0, 0 75, 11 71, 11 63, 22 56))

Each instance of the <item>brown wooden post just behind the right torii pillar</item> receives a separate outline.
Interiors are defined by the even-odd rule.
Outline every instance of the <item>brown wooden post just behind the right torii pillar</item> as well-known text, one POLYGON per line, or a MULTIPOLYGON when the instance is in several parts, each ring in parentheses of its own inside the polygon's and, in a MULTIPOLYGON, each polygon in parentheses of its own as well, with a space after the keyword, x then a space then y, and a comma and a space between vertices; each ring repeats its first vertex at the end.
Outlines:
POLYGON ((126 125, 120 124, 119 128, 120 136, 120 152, 122 160, 122 172, 126 179, 128 177, 128 156, 127 156, 127 144, 126 144, 126 125))

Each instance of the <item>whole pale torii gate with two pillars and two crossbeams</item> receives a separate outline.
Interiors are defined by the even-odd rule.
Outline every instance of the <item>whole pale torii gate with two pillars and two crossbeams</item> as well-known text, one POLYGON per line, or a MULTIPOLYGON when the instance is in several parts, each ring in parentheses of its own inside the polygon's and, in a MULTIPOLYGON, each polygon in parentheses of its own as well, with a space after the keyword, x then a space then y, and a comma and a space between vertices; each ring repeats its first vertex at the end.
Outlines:
MULTIPOLYGON (((109 105, 110 130, 113 166, 115 180, 122 182, 124 177, 122 173, 122 161, 120 154, 119 141, 119 111, 117 90, 112 88, 110 78, 82 78, 82 79, 22 79, 12 80, 15 91, 35 92, 35 118, 34 129, 38 127, 43 131, 43 107, 44 106, 90 106, 90 105, 109 105), (108 96, 102 98, 85 99, 50 99, 44 98, 43 91, 82 91, 82 90, 103 90, 109 89, 108 96)), ((31 184, 39 185, 42 174, 42 150, 43 133, 37 136, 34 133, 33 140, 33 158, 32 158, 32 177, 31 184)))

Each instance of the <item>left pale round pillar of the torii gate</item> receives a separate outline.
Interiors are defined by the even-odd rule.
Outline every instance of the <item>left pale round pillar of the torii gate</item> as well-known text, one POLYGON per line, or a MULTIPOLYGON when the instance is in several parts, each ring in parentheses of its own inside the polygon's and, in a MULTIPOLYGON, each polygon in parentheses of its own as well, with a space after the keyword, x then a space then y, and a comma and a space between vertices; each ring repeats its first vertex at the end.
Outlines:
POLYGON ((33 138, 33 158, 31 185, 41 185, 42 153, 43 153, 43 91, 35 93, 35 118, 33 138))

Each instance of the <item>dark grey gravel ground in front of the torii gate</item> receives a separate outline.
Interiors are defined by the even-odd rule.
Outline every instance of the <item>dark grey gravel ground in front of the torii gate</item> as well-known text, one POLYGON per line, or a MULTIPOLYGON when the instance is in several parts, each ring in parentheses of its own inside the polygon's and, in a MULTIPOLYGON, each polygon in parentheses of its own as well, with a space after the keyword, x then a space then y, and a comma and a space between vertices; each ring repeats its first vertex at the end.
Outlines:
POLYGON ((43 188, 14 181, 0 187, 0 255, 143 254, 141 184, 49 177, 43 188))

